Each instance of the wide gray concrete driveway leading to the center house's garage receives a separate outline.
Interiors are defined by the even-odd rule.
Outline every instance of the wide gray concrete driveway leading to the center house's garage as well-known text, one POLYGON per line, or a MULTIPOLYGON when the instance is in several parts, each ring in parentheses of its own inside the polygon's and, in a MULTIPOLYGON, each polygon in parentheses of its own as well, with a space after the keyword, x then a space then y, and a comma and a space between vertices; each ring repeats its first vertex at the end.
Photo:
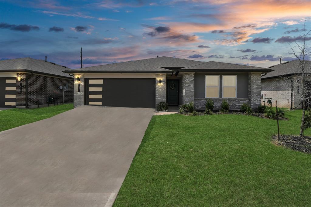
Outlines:
POLYGON ((0 132, 0 206, 111 206, 153 113, 83 106, 0 132))

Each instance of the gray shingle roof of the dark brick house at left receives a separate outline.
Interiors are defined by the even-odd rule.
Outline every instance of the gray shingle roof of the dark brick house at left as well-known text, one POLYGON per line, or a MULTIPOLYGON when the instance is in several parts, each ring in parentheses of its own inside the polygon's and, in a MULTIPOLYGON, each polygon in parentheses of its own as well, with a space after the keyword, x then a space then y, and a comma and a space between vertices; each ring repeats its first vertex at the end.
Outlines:
POLYGON ((73 78, 72 76, 69 76, 69 74, 62 72, 66 69, 70 68, 33 58, 17 58, 0 61, 0 72, 29 71, 49 74, 51 76, 55 75, 73 78))

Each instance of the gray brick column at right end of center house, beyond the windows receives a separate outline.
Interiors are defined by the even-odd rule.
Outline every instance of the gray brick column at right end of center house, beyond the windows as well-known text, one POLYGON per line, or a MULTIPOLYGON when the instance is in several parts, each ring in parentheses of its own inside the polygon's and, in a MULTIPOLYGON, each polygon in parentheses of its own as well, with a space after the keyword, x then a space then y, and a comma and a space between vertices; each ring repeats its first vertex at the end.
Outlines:
POLYGON ((261 72, 248 73, 248 99, 253 110, 261 104, 261 72))

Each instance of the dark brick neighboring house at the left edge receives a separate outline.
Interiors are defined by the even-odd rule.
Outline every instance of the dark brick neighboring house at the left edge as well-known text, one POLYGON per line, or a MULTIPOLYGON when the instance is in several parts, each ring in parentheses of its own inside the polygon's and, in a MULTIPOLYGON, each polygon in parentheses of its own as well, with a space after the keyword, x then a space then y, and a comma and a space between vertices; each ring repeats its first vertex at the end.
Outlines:
MULTIPOLYGON (((73 77, 65 66, 32 58, 0 61, 0 108, 35 108, 48 104, 49 97, 73 102, 73 77)), ((54 99, 56 100, 56 99, 54 99)))

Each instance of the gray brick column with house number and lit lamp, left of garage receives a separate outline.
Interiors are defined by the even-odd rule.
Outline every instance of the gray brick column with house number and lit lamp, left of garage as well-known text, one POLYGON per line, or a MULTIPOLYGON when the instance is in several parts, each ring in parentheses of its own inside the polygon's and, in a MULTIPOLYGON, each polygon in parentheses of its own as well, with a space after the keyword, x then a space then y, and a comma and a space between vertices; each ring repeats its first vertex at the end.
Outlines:
POLYGON ((73 79, 73 106, 83 106, 84 105, 84 74, 74 74, 73 79), (77 82, 77 78, 80 78, 80 82, 77 82), (80 92, 79 92, 80 84, 80 92))

